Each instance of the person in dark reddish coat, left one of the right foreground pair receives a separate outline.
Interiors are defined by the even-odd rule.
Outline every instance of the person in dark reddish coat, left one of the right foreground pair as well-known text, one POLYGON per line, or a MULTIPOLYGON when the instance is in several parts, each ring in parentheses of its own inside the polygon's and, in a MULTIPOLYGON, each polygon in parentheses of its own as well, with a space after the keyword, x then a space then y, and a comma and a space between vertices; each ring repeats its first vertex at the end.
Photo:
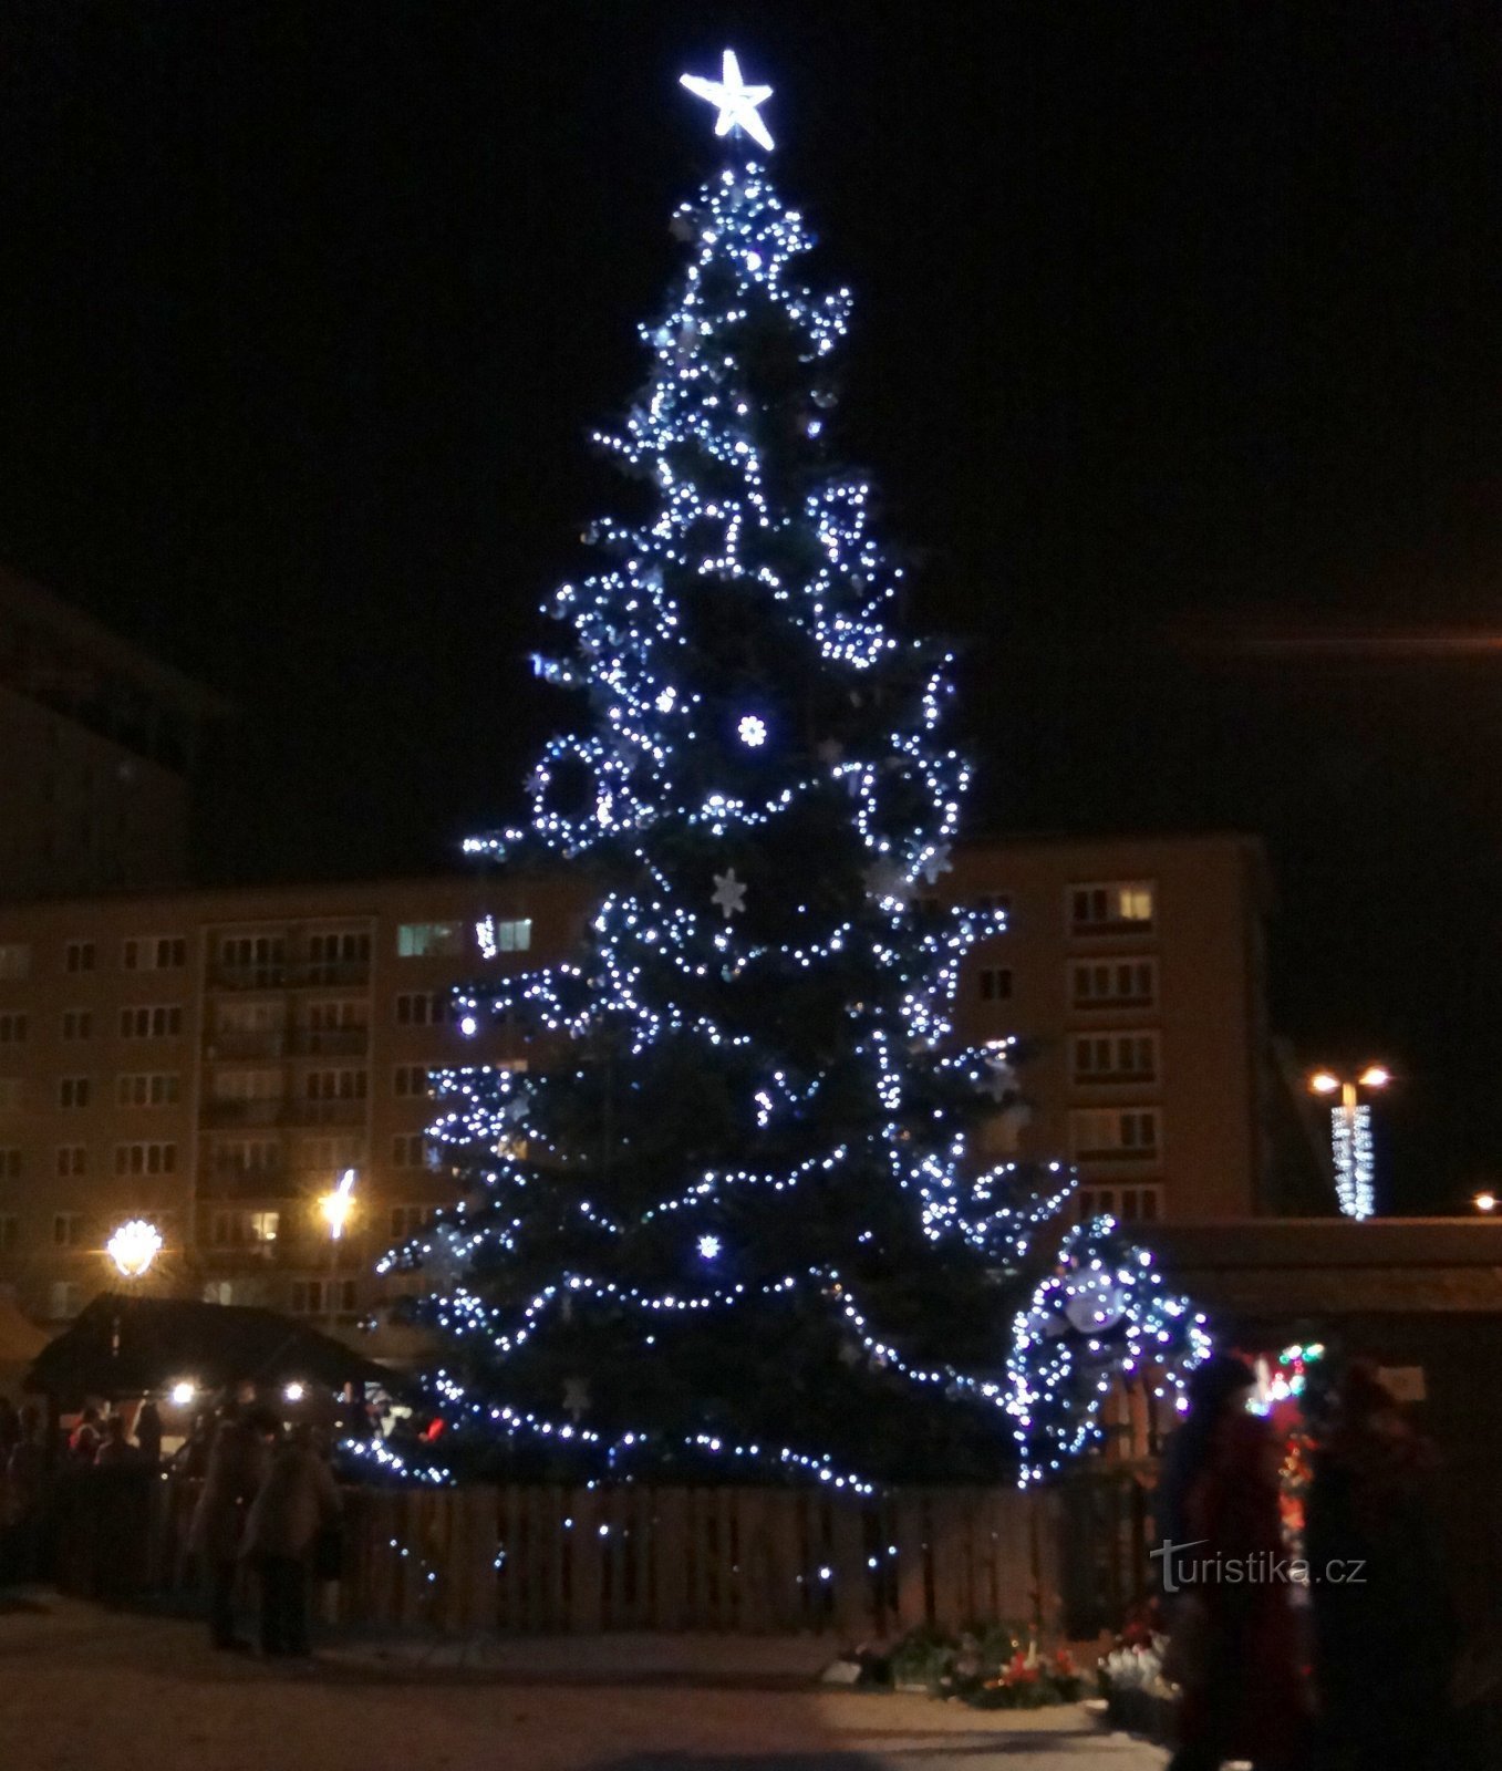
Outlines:
POLYGON ((1304 1746, 1298 1638, 1279 1576, 1279 1452, 1266 1420, 1247 1410, 1254 1385, 1245 1360, 1206 1360, 1165 1459, 1160 1523, 1180 1546, 1164 1557, 1165 1670, 1183 1688, 1169 1771, 1231 1759, 1282 1771, 1304 1746))

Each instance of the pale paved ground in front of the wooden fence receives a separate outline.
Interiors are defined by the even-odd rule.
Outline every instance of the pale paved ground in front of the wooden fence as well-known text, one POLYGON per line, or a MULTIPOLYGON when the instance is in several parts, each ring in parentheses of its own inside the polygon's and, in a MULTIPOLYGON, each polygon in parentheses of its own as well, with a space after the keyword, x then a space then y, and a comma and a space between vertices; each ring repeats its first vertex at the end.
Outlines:
POLYGON ((177 1619, 0 1606, 5 1771, 1160 1771, 1079 1711, 1008 1727, 808 1690, 817 1643, 608 1638, 455 1654, 356 1643, 289 1668, 177 1619), (615 1665, 613 1665, 615 1661, 615 1665))

